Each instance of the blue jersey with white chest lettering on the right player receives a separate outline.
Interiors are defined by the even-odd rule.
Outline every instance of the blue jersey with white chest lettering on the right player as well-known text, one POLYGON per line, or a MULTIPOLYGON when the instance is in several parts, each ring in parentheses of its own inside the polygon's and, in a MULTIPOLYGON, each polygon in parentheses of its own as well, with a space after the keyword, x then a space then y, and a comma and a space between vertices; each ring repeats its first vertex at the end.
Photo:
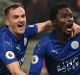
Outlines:
POLYGON ((49 75, 80 75, 80 35, 60 43, 52 32, 35 47, 29 75, 40 75, 45 60, 49 75))

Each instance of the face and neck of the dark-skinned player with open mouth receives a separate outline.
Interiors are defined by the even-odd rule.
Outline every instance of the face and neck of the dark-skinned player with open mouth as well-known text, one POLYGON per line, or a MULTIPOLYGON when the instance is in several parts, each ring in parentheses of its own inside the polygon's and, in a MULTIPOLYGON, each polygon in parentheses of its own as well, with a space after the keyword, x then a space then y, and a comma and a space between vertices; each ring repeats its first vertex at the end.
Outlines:
POLYGON ((72 11, 69 8, 62 8, 58 11, 57 18, 52 21, 54 23, 54 30, 60 42, 67 39, 68 35, 73 32, 74 19, 72 11), (60 34, 59 34, 60 33, 60 34), (62 38, 62 39, 61 39, 62 38))

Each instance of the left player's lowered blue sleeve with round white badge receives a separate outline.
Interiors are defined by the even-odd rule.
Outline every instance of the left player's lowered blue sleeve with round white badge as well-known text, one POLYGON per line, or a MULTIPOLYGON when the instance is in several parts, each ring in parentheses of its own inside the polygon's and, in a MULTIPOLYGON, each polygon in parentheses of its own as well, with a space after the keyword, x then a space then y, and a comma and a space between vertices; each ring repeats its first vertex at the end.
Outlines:
POLYGON ((17 58, 12 51, 9 42, 0 42, 0 61, 2 61, 2 63, 4 63, 5 65, 17 61, 17 58))

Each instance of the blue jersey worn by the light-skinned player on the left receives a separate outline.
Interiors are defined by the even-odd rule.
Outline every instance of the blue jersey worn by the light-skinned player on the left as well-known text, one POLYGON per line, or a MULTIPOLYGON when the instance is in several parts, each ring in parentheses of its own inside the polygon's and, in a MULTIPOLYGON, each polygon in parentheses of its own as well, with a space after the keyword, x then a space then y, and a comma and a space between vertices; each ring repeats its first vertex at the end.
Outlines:
POLYGON ((23 64, 28 39, 37 31, 37 25, 28 25, 20 39, 16 38, 7 26, 0 31, 0 75, 11 75, 6 65, 12 62, 18 61, 20 66, 23 64))

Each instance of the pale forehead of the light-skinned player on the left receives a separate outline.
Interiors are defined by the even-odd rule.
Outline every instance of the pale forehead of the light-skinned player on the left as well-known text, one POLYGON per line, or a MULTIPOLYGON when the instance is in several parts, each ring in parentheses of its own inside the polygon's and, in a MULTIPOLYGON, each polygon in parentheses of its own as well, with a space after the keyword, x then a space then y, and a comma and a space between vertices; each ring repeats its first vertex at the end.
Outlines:
POLYGON ((22 7, 18 7, 15 9, 12 8, 9 10, 9 14, 10 15, 22 15, 22 14, 25 14, 25 10, 22 7))

